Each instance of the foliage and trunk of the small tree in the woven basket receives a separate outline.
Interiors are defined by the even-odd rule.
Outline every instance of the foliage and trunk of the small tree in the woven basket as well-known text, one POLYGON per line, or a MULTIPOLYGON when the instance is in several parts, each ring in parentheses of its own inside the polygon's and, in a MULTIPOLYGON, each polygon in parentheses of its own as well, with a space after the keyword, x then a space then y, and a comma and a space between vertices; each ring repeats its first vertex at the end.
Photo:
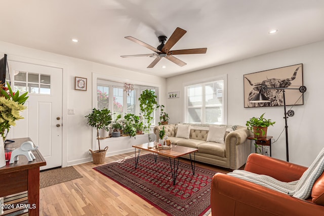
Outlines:
MULTIPOLYGON (((86 115, 88 118, 88 124, 97 129, 97 137, 99 138, 99 129, 107 127, 112 121, 112 113, 107 108, 99 110, 93 108, 92 112, 86 115)), ((100 149, 100 141, 98 139, 99 151, 100 149)))

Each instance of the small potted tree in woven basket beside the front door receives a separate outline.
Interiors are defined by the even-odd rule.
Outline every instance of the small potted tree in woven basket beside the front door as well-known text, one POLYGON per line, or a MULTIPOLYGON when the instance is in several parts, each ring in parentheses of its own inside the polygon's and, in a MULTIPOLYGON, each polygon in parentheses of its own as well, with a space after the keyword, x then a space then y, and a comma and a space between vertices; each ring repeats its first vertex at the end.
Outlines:
POLYGON ((103 163, 105 161, 106 151, 108 149, 108 146, 105 147, 103 150, 100 149, 99 129, 102 129, 111 123, 112 120, 111 112, 107 108, 102 110, 93 108, 92 112, 86 115, 85 117, 88 119, 87 123, 90 126, 97 129, 99 150, 92 151, 91 149, 89 149, 89 151, 92 153, 93 163, 95 164, 103 163))

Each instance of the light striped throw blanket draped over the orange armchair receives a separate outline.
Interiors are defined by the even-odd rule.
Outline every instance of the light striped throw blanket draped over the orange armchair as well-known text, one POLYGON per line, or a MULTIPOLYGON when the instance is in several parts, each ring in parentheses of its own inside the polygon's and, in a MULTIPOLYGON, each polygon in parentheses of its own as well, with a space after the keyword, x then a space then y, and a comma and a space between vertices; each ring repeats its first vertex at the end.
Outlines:
POLYGON ((302 177, 294 182, 280 182, 270 176, 259 175, 246 170, 234 170, 227 175, 246 180, 272 190, 285 193, 300 199, 307 199, 315 181, 324 170, 324 148, 319 152, 314 162, 304 172, 302 177))

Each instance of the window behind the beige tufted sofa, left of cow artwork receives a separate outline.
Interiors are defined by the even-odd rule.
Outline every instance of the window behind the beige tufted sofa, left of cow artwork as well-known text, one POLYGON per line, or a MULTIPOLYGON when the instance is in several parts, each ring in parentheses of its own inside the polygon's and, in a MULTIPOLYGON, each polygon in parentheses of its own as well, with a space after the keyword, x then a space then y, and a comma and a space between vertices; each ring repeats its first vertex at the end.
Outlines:
POLYGON ((185 122, 226 123, 226 78, 185 86, 185 122))

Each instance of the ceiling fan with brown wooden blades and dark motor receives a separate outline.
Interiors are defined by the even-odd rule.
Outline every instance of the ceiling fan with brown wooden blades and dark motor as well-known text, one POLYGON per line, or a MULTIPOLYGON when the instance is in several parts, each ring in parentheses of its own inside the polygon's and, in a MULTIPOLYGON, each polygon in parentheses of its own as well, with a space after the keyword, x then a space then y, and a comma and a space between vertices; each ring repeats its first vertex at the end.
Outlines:
POLYGON ((161 60, 161 58, 166 58, 173 63, 179 65, 180 67, 186 65, 187 63, 181 61, 180 59, 174 57, 174 55, 183 55, 183 54, 205 54, 207 52, 207 48, 198 48, 198 49, 186 49, 186 50, 170 50, 176 42, 186 33, 186 30, 183 30, 182 28, 177 27, 176 30, 172 33, 171 37, 167 40, 167 36, 161 35, 158 36, 158 41, 161 43, 157 48, 154 48, 148 44, 145 44, 145 42, 138 40, 132 36, 125 37, 126 39, 129 39, 133 42, 136 42, 136 44, 139 44, 143 47, 146 47, 155 53, 153 54, 141 54, 141 55, 129 55, 129 56, 120 56, 123 58, 128 57, 142 57, 142 56, 148 56, 148 57, 155 57, 153 62, 147 66, 147 68, 154 67, 157 62, 161 60))

